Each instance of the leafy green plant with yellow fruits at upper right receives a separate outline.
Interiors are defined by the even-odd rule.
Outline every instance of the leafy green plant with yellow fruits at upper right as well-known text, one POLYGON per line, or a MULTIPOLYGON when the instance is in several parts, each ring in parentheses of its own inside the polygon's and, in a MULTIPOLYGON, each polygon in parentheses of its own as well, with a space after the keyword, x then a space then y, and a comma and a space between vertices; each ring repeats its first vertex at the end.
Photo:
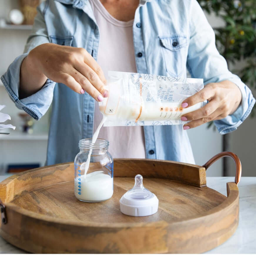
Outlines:
MULTIPOLYGON (((256 89, 256 0, 198 0, 198 3, 225 22, 222 27, 213 27, 217 49, 229 67, 237 61, 245 62, 245 66, 231 71, 256 89)), ((256 106, 250 116, 255 113, 256 106)))

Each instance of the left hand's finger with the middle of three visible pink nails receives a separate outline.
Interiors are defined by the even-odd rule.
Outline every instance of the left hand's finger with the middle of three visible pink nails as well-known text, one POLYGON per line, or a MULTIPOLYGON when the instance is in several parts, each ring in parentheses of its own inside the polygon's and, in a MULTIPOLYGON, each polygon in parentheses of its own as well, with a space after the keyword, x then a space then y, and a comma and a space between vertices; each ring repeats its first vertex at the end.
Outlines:
POLYGON ((101 93, 91 84, 91 82, 83 76, 76 69, 73 69, 71 72, 73 78, 81 85, 81 87, 86 91, 90 96, 92 96, 96 101, 103 101, 103 96, 101 93))

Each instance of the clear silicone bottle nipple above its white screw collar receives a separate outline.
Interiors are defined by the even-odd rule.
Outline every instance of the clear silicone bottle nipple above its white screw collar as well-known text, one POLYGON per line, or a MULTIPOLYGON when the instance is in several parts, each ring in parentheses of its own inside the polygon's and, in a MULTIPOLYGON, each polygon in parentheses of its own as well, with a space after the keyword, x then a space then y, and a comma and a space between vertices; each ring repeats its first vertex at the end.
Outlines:
POLYGON ((135 176, 135 184, 132 189, 127 191, 126 196, 131 199, 148 199, 153 193, 143 186, 143 177, 140 174, 135 176))

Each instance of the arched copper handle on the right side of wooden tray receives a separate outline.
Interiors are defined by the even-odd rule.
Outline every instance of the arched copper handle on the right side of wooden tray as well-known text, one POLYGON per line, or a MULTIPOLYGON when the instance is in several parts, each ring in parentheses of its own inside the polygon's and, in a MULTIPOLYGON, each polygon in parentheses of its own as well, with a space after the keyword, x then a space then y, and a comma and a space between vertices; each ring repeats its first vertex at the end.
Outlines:
POLYGON ((214 157, 212 157, 210 160, 208 160, 203 167, 205 168, 205 170, 208 169, 208 167, 213 164, 216 160, 223 158, 223 157, 231 157, 234 161, 235 161, 235 167, 236 167, 236 171, 235 171, 235 183, 238 185, 238 183, 240 182, 241 179, 241 174, 242 174, 242 166, 241 166, 241 162, 240 159, 237 157, 237 155, 233 152, 220 152, 219 154, 215 155, 214 157))

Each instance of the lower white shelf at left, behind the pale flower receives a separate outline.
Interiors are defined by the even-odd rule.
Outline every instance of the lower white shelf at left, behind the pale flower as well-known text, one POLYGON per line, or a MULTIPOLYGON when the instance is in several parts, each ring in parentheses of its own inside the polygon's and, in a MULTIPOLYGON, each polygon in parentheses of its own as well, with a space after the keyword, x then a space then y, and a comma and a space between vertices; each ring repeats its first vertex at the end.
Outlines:
POLYGON ((0 135, 0 141, 1 140, 20 140, 20 141, 27 141, 27 140, 37 140, 37 141, 43 141, 48 140, 48 134, 41 133, 41 134, 26 134, 20 131, 12 131, 9 130, 9 135, 0 135))

